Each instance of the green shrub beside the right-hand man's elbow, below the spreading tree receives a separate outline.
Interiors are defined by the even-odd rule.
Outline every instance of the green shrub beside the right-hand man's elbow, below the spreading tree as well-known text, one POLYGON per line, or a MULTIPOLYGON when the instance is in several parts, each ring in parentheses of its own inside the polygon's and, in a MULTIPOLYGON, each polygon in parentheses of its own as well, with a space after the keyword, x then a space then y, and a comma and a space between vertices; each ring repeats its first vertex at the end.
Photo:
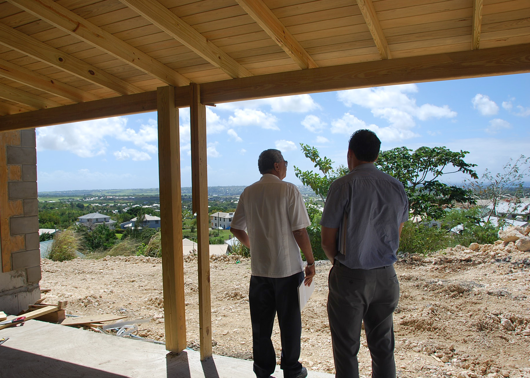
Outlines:
POLYGON ((429 253, 447 248, 449 241, 449 235, 443 228, 405 222, 401 231, 399 252, 418 253, 426 256, 429 253))

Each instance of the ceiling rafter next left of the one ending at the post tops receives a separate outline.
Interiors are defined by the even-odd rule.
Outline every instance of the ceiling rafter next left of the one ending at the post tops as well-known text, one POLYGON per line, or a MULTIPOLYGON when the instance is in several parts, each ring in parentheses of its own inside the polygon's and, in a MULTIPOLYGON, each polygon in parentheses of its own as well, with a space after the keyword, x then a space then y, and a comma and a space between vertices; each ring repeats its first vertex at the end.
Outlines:
POLYGON ((46 45, 46 43, 10 28, 3 23, 0 23, 0 43, 118 94, 144 92, 136 85, 127 83, 102 69, 85 63, 83 60, 66 54, 55 47, 46 45))

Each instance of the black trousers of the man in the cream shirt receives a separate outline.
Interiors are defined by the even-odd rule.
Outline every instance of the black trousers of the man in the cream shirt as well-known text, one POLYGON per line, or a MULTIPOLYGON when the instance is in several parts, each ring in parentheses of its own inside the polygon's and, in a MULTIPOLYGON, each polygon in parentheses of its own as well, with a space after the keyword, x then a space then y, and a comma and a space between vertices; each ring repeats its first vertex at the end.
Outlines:
POLYGON ((269 377, 276 368, 276 354, 270 338, 276 312, 281 338, 280 368, 284 371, 284 377, 288 378, 302 370, 302 364, 298 362, 302 336, 298 285, 303 280, 303 272, 284 278, 250 277, 254 373, 258 377, 269 377))

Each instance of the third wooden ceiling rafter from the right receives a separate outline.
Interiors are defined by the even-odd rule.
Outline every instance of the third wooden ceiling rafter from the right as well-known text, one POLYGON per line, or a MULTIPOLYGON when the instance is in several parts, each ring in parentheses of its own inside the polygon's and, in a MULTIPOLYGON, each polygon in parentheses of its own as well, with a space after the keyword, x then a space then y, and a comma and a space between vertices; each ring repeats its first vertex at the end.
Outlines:
POLYGON ((293 58, 300 68, 318 67, 311 55, 307 53, 296 38, 293 37, 293 34, 287 30, 284 24, 278 20, 278 17, 272 13, 270 8, 262 0, 236 1, 269 34, 269 37, 278 43, 278 46, 284 49, 287 55, 293 58))

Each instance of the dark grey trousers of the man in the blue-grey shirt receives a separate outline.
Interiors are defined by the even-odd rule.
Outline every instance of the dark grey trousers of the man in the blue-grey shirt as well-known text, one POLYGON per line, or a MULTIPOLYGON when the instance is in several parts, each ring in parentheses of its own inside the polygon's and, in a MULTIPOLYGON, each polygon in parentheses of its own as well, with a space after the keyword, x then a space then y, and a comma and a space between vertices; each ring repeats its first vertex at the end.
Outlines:
POLYGON ((362 321, 372 356, 372 377, 395 378, 392 314, 398 300, 393 266, 350 269, 335 261, 329 275, 328 317, 336 378, 359 377, 362 321))

